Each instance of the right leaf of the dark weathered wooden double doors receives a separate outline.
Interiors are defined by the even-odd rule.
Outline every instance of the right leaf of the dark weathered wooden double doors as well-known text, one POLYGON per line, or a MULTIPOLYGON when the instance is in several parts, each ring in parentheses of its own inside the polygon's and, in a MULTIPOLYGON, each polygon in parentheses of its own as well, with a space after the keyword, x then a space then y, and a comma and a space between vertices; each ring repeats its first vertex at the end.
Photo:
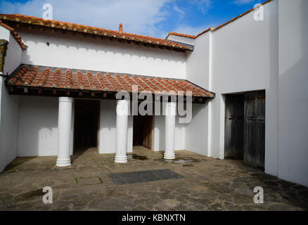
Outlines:
POLYGON ((265 91, 245 94, 244 162, 264 168, 265 91))

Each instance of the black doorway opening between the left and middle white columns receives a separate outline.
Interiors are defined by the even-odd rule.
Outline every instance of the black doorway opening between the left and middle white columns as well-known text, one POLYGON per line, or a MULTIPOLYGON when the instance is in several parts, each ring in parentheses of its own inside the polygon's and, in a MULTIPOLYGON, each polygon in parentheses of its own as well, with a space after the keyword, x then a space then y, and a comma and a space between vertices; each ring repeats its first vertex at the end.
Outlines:
POLYGON ((97 148, 99 101, 75 100, 74 153, 97 148))

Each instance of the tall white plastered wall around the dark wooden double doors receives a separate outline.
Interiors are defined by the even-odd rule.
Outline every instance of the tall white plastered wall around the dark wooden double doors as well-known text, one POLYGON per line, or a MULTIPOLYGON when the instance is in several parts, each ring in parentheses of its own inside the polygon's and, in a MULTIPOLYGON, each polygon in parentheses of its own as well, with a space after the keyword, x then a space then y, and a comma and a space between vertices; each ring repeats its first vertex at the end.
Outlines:
POLYGON ((266 90, 265 170, 277 176, 278 154, 278 3, 264 6, 264 20, 254 13, 213 32, 212 145, 210 155, 224 158, 223 94, 266 90))

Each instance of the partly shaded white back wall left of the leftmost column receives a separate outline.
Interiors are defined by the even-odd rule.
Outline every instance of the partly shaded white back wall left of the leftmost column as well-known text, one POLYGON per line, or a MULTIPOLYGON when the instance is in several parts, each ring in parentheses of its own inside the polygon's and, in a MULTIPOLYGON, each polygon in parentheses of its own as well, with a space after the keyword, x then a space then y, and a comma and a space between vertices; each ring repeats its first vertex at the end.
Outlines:
POLYGON ((57 155, 58 98, 20 96, 18 156, 57 155))

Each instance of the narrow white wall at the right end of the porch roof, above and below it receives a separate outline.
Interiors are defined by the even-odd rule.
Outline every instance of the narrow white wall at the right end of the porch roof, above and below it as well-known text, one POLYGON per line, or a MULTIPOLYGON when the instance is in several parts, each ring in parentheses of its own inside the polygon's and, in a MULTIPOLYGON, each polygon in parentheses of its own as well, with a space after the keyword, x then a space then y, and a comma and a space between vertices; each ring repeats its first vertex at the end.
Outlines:
MULTIPOLYGON (((186 79, 207 90, 212 90, 210 86, 212 37, 210 35, 212 34, 207 32, 194 39, 194 51, 187 53, 186 60, 186 79)), ((191 122, 186 124, 185 133, 185 149, 207 156, 210 156, 208 153, 210 104, 193 104, 193 117, 191 122)))

